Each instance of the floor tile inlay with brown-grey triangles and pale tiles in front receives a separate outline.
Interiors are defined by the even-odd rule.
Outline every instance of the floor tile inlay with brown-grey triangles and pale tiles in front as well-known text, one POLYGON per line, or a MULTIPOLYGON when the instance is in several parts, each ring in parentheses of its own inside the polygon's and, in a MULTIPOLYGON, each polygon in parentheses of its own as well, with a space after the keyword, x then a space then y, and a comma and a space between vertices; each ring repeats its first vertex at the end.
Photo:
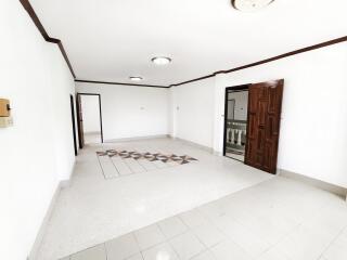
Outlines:
POLYGON ((127 150, 106 150, 97 152, 97 155, 105 179, 197 161, 188 155, 140 153, 127 150))

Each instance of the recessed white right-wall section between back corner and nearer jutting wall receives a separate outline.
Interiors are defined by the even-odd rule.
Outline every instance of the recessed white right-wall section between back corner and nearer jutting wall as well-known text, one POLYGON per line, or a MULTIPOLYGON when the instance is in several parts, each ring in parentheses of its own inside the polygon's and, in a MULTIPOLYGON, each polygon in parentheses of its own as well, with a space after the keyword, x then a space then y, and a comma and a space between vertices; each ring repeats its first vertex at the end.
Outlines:
POLYGON ((172 88, 175 138, 213 147, 214 88, 214 78, 172 88))

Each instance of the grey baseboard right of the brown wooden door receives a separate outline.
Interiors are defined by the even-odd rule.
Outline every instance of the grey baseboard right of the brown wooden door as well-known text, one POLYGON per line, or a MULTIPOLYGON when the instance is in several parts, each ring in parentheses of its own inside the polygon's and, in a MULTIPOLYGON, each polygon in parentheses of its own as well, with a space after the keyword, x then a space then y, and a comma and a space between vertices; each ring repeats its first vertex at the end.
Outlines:
POLYGON ((342 186, 337 186, 335 184, 331 184, 324 181, 320 181, 310 177, 306 177, 296 172, 292 172, 292 171, 287 171, 287 170, 283 170, 283 169, 278 169, 278 176, 284 177, 284 178, 288 178, 288 179, 293 179, 293 180, 297 180, 300 182, 304 182, 308 185, 311 186, 316 186, 318 188, 324 190, 326 192, 336 194, 338 196, 344 197, 345 199, 347 198, 347 188, 346 187, 342 187, 342 186))

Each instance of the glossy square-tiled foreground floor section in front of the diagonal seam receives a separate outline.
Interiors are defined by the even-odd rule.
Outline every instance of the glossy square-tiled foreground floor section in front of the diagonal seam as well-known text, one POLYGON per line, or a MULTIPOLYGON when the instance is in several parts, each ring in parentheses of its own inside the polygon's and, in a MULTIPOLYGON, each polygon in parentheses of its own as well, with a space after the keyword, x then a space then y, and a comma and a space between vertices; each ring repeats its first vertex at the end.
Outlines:
MULTIPOLYGON (((347 206, 338 196, 278 177, 94 248, 106 248, 108 260, 343 260, 347 256, 347 206), (256 202, 261 206, 254 214, 256 202), (230 210, 237 205, 245 205, 244 220, 230 210), (310 213, 292 219, 281 210, 287 206, 306 206, 310 213)), ((67 259, 98 260, 94 253, 89 248, 67 259)))

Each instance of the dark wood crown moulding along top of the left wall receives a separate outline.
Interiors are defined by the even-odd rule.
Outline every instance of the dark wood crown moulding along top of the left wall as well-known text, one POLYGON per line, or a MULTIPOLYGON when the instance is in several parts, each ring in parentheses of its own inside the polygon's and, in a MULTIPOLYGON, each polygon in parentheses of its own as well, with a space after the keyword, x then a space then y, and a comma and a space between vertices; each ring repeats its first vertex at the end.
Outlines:
POLYGON ((29 14, 29 16, 31 17, 34 24, 36 25, 36 27, 38 28, 38 30, 41 32, 43 39, 47 42, 51 42, 51 43, 55 43, 57 44, 59 49, 61 50, 64 60, 73 75, 74 78, 76 78, 75 72, 73 69, 73 66, 67 57, 66 51, 64 49, 63 42, 60 39, 55 39, 55 38, 51 38, 48 32, 46 31, 43 25, 41 24, 39 17, 37 16, 37 14, 35 13, 29 0, 20 0, 20 2, 22 3, 23 8, 26 10, 26 12, 29 14))

